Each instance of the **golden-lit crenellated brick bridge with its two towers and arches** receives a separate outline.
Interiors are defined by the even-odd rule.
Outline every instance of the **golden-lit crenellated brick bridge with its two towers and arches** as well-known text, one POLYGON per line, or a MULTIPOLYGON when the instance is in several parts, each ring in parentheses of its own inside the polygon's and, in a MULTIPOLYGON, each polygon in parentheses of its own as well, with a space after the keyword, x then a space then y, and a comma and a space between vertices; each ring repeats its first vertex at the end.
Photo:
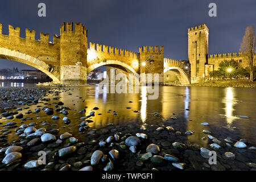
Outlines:
POLYGON ((9 35, 2 34, 0 24, 0 59, 31 65, 64 85, 85 84, 87 74, 102 65, 126 73, 158 73, 160 84, 164 73, 171 70, 181 84, 189 84, 184 65, 164 59, 163 46, 143 46, 139 52, 94 43, 89 43, 88 48, 87 35, 81 23, 63 23, 52 43, 49 34, 40 32, 40 40, 35 40, 35 30, 27 28, 25 38, 20 38, 19 27, 10 25, 9 35))

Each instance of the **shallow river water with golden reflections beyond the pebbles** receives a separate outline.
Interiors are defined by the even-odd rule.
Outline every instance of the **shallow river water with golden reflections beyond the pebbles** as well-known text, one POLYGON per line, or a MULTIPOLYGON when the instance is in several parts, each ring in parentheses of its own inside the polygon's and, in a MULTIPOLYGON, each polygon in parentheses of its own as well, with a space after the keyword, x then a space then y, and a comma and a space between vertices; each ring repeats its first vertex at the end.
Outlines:
MULTIPOLYGON (((194 131, 195 134, 188 136, 191 143, 206 146, 207 140, 200 139, 207 136, 202 131, 209 130, 218 139, 246 138, 250 141, 251 146, 256 144, 256 98, 253 88, 160 86, 157 100, 148 100, 147 96, 146 86, 140 88, 140 93, 133 94, 98 93, 97 86, 81 86, 69 88, 68 91, 67 89, 62 90, 59 96, 49 96, 51 101, 48 104, 51 105, 39 103, 31 105, 29 108, 34 111, 38 105, 54 107, 53 102, 62 101, 64 106, 71 109, 68 110, 68 118, 72 122, 68 126, 62 122, 63 114, 59 114, 61 119, 55 121, 43 111, 38 114, 26 115, 24 113, 27 109, 19 112, 23 113, 24 117, 33 118, 32 121, 28 120, 24 123, 36 121, 57 123, 60 134, 64 131, 72 131, 76 137, 79 137, 78 125, 82 121, 80 117, 89 115, 93 107, 97 106, 99 110, 94 110, 96 114, 90 118, 94 121, 89 123, 90 129, 98 129, 108 123, 122 125, 122 123, 138 121, 151 125, 166 121, 172 122, 172 126, 178 131, 184 133, 188 130, 194 131), (53 97, 60 97, 60 99, 52 100, 53 97), (85 109, 85 106, 87 107, 86 113, 79 114, 78 112, 85 109), (126 109, 126 107, 131 107, 131 109, 126 109), (139 112, 134 113, 134 110, 139 112), (113 111, 117 115, 114 115, 113 111), (156 117, 155 112, 159 113, 160 117, 156 117), (39 119, 36 119, 36 115, 39 115, 39 119), (240 118, 238 115, 249 118, 240 118), (171 117, 177 119, 170 119, 171 117), (208 122, 209 126, 200 125, 202 122, 208 122), (67 126, 67 128, 61 126, 67 126)), ((57 115, 56 112, 54 115, 57 115)), ((14 120, 19 121, 19 119, 14 120)), ((2 118, 0 122, 5 123, 7 120, 2 118)), ((9 142, 14 139, 18 139, 18 136, 10 135, 9 142)))

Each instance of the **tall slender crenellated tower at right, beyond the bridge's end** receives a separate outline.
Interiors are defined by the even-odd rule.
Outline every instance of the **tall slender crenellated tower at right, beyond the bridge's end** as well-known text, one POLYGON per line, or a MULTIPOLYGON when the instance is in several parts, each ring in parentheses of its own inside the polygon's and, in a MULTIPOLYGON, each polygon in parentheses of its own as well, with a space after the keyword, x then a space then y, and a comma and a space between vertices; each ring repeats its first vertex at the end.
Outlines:
POLYGON ((209 30, 205 24, 188 28, 188 60, 191 64, 191 83, 203 81, 208 63, 209 30))

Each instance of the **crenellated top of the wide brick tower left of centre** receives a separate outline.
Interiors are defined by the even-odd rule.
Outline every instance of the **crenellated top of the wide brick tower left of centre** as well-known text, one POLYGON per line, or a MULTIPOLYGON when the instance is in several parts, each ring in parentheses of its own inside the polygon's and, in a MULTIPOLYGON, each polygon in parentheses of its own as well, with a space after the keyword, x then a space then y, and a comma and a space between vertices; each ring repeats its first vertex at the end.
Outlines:
POLYGON ((60 26, 60 34, 65 34, 67 32, 82 32, 82 34, 84 34, 87 37, 87 29, 82 25, 81 22, 79 23, 64 22, 60 26))

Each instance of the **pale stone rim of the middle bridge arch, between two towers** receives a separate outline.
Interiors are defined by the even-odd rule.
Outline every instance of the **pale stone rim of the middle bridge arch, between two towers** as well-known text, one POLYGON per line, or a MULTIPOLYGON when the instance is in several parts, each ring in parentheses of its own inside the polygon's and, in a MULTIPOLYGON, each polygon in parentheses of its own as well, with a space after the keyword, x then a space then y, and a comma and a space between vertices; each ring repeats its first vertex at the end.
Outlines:
POLYGON ((118 61, 118 60, 106 60, 102 61, 100 63, 95 63, 93 65, 90 65, 90 67, 87 68, 87 73, 93 71, 93 69, 101 67, 101 66, 110 66, 110 67, 117 67, 117 69, 121 69, 122 71, 126 71, 127 73, 133 73, 137 74, 137 72, 129 65, 118 61))

